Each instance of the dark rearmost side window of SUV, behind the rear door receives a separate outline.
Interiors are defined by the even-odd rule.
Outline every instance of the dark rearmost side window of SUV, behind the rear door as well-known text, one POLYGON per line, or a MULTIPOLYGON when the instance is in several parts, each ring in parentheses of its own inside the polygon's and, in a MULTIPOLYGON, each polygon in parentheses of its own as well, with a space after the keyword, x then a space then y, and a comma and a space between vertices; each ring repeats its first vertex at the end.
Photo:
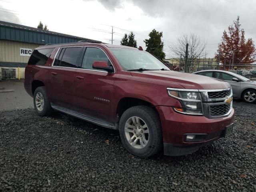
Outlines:
POLYGON ((34 50, 28 60, 28 65, 45 65, 54 48, 34 50))

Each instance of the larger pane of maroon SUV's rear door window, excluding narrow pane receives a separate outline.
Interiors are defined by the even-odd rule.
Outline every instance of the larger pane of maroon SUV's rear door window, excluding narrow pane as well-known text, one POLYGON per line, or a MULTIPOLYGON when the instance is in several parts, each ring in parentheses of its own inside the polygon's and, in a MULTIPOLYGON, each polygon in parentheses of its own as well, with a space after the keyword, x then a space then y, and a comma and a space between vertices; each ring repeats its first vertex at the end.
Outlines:
MULTIPOLYGON (((80 47, 64 48, 65 50, 61 58, 60 66, 77 68, 77 59, 80 56, 80 47)), ((60 54, 61 55, 61 54, 60 54)))

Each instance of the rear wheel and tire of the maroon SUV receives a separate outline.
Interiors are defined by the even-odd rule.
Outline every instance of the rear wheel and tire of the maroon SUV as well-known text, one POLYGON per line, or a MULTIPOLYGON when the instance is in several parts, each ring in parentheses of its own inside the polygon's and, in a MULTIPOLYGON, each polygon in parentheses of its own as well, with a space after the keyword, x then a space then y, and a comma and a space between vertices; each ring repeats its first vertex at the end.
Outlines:
POLYGON ((36 88, 34 92, 34 108, 39 116, 48 116, 52 113, 52 106, 45 87, 36 88))

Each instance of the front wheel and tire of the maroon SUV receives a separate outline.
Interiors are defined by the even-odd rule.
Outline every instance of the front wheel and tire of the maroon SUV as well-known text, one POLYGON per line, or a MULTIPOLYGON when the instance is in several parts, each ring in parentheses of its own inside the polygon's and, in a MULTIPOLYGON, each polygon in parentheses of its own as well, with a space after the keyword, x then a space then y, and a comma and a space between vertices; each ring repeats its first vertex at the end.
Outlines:
POLYGON ((124 148, 138 157, 150 157, 161 149, 160 119, 148 106, 127 109, 120 118, 119 132, 124 148))

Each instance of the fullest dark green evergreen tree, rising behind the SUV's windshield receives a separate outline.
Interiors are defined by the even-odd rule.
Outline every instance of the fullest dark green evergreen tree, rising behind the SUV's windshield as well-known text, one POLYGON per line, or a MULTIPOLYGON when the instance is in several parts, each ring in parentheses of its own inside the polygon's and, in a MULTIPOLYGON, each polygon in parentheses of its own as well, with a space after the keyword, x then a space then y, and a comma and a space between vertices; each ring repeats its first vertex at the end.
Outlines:
POLYGON ((163 52, 164 43, 161 40, 163 33, 153 29, 148 36, 149 39, 144 40, 147 47, 146 51, 163 60, 165 58, 165 53, 163 52))

